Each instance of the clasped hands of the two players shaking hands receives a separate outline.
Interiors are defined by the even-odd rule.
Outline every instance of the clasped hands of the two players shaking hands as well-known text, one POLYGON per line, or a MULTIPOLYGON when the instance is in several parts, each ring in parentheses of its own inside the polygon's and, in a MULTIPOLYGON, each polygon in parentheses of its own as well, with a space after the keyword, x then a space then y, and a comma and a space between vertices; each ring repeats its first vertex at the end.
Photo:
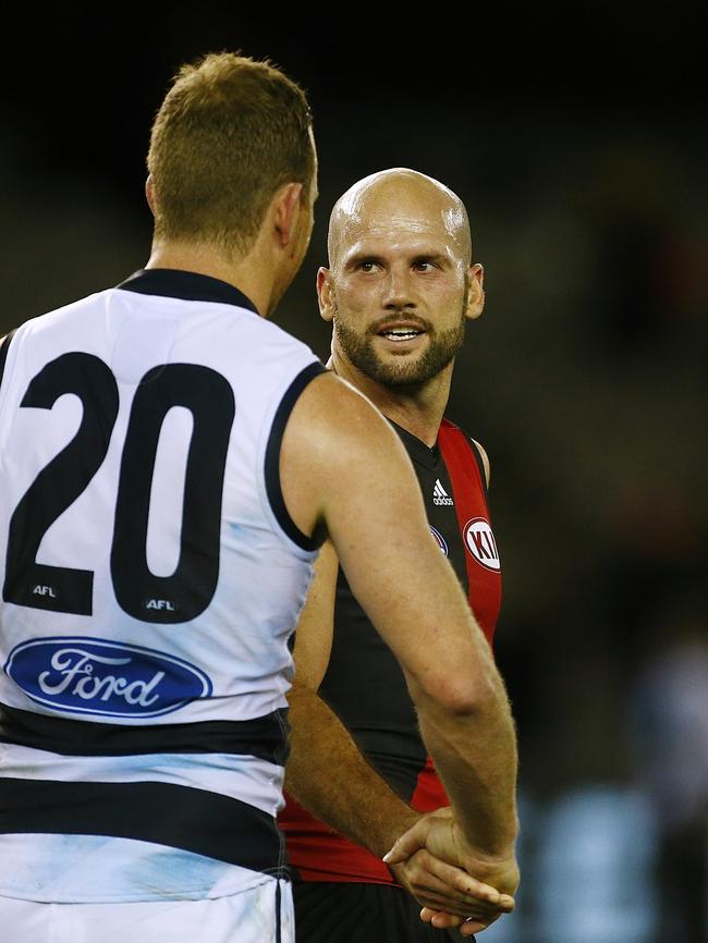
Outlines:
POLYGON ((383 856, 395 880, 420 904, 420 919, 472 936, 514 909, 518 866, 513 849, 476 852, 450 808, 416 818, 383 856))

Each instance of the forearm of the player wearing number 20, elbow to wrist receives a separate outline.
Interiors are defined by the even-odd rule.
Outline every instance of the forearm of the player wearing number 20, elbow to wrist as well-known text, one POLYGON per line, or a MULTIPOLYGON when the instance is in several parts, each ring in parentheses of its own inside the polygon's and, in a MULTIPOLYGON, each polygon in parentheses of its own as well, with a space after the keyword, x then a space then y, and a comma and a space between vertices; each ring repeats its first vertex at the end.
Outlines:
POLYGON ((424 742, 467 842, 481 854, 505 855, 516 819, 516 735, 496 669, 473 708, 455 712, 418 696, 424 742))

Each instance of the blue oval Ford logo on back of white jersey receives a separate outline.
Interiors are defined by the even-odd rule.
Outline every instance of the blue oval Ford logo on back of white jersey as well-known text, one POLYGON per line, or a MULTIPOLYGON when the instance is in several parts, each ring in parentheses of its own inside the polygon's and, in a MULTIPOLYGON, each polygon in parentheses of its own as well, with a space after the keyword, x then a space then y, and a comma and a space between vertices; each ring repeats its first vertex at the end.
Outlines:
POLYGON ((170 713, 212 689, 207 675, 181 658, 93 638, 23 641, 4 671, 38 703, 113 718, 170 713))

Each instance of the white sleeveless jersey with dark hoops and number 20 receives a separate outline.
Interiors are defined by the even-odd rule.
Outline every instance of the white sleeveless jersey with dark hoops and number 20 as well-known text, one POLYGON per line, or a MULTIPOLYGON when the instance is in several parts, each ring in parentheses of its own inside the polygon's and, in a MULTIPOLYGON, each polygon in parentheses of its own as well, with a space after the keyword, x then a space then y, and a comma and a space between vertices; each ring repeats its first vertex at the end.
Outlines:
POLYGON ((325 368, 234 287, 160 269, 0 354, 0 894, 282 875, 288 641, 317 548, 279 454, 325 368))

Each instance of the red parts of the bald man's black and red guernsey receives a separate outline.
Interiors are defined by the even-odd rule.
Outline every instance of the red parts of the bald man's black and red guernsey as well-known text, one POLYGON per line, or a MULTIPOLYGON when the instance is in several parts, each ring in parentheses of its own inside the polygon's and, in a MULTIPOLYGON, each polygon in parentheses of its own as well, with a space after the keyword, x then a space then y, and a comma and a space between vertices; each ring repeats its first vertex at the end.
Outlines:
MULTIPOLYGON (((471 521, 489 522, 485 483, 473 445, 465 434, 447 419, 442 420, 438 443, 450 475, 464 542, 464 530, 471 521)), ((466 546, 465 562, 469 605, 491 645, 501 607, 501 573, 479 564, 466 546)), ((303 880, 395 884, 386 865, 366 848, 353 844, 318 822, 288 792, 279 825, 285 834, 290 864, 297 869, 303 880)), ((430 812, 440 806, 449 805, 430 757, 418 774, 411 805, 419 812, 430 812)))

